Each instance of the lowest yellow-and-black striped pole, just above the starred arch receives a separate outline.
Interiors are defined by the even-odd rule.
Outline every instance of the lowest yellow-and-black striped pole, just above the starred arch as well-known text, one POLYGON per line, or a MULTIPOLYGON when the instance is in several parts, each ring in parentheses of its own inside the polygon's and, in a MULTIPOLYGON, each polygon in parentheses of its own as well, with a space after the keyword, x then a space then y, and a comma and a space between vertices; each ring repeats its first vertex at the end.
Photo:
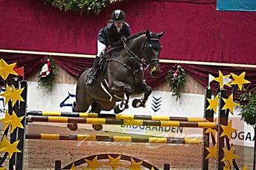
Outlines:
POLYGON ((62 140, 62 141, 101 141, 118 143, 164 143, 164 144, 201 144, 201 139, 176 137, 142 137, 111 135, 64 135, 64 134, 26 134, 26 139, 62 140))

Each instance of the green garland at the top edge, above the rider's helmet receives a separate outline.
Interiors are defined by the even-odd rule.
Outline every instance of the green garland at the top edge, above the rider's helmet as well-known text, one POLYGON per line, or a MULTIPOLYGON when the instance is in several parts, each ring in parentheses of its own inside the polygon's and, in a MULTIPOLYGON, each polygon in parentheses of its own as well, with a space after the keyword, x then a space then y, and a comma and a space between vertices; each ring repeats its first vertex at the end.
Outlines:
POLYGON ((45 0, 45 3, 50 3, 60 10, 65 9, 65 11, 70 10, 80 12, 81 14, 85 11, 87 14, 91 12, 98 14, 101 8, 121 1, 123 0, 45 0))

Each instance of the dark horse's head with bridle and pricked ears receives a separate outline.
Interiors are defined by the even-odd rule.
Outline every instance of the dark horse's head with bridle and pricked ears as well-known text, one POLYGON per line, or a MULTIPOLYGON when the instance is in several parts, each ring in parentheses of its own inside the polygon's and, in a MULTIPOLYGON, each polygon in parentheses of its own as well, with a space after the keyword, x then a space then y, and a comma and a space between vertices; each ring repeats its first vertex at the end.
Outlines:
POLYGON ((143 57, 147 65, 149 65, 149 72, 152 77, 157 77, 160 73, 159 54, 162 49, 159 39, 164 35, 164 32, 155 34, 146 31, 146 40, 144 45, 145 56, 143 57))

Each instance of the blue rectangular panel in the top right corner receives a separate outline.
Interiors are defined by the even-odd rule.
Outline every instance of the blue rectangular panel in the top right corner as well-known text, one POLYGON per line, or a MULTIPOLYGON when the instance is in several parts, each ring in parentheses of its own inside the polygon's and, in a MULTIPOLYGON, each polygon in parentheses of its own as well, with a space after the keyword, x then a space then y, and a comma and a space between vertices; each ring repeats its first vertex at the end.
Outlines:
POLYGON ((217 10, 256 12, 255 0, 217 0, 217 10))

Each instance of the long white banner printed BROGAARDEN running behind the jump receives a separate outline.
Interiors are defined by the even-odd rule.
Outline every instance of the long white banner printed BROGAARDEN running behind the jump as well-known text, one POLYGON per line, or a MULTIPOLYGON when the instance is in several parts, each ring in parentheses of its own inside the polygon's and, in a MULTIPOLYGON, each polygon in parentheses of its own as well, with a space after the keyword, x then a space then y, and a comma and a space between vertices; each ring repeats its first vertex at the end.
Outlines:
MULTIPOLYGON (((1 88, 1 93, 5 88, 1 88)), ((63 111, 72 112, 73 102, 75 101, 76 85, 75 84, 55 84, 52 92, 45 89, 38 89, 37 82, 28 82, 28 111, 63 111), (56 88, 58 87, 58 88, 56 88)), ((189 118, 203 118, 204 112, 204 95, 182 94, 180 100, 176 101, 176 97, 171 96, 171 92, 153 91, 146 108, 133 108, 133 98, 141 98, 135 96, 130 99, 129 109, 121 114, 139 114, 148 116, 175 116, 189 118)), ((0 97, 0 118, 4 117, 3 97, 0 97)), ((104 113, 112 113, 113 111, 102 111, 104 113)), ((232 143, 253 146, 254 132, 251 126, 241 121, 239 109, 234 109, 232 118, 232 128, 236 128, 237 132, 232 134, 232 143)), ((217 114, 214 117, 218 118, 217 114)), ((55 125, 63 125, 65 123, 56 123, 55 125)), ((89 125, 79 125, 80 128, 91 128, 89 125)), ((144 126, 124 126, 124 125, 103 125, 104 130, 123 132, 128 134, 158 135, 166 137, 201 137, 202 128, 182 128, 182 127, 144 127, 144 126)))

